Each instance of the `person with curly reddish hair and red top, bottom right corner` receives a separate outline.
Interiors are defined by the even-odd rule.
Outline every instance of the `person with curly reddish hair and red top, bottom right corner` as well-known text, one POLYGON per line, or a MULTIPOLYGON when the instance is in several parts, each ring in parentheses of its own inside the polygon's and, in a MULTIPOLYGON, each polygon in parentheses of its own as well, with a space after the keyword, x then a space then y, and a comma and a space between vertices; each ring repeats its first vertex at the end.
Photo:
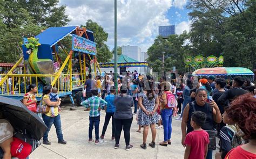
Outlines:
POLYGON ((225 159, 256 158, 256 98, 250 93, 234 99, 226 109, 227 116, 239 126, 244 133, 243 138, 249 142, 231 149, 225 159))

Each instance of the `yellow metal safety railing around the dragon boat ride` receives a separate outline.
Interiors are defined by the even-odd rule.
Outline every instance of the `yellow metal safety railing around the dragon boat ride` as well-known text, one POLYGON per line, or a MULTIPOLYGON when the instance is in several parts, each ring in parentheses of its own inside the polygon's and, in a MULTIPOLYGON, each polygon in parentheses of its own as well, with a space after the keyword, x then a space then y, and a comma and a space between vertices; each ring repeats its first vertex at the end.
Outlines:
POLYGON ((52 83, 56 79, 57 74, 1 74, 0 81, 0 95, 18 95, 22 96, 28 92, 28 86, 35 84, 37 87, 36 96, 41 96, 45 85, 50 84, 53 87, 58 88, 58 93, 67 93, 73 89, 82 88, 85 80, 80 80, 83 76, 82 73, 77 74, 60 74, 55 83, 52 83), (2 77, 5 77, 3 80, 2 77), (43 82, 44 81, 44 82, 43 82), (46 81, 46 83, 45 83, 46 81))

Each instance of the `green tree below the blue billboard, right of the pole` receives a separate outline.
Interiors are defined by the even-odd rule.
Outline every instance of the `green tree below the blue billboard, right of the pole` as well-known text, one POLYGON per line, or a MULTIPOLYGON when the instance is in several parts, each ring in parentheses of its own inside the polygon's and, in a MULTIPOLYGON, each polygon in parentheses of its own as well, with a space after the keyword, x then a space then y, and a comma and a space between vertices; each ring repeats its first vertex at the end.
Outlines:
POLYGON ((184 57, 190 53, 189 50, 191 49, 188 44, 185 44, 188 38, 187 32, 180 35, 170 35, 167 39, 158 36, 154 40, 154 44, 147 50, 149 55, 147 61, 153 68, 153 72, 162 73, 163 54, 164 71, 172 71, 172 67, 176 66, 177 70, 181 72, 184 69, 184 57))

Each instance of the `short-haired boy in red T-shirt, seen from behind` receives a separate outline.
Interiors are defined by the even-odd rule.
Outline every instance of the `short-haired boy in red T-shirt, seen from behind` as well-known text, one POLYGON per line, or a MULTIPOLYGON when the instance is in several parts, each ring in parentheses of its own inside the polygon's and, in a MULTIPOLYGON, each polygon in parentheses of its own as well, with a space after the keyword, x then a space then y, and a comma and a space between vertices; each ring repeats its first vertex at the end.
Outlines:
POLYGON ((184 159, 206 158, 209 144, 209 135, 204 131, 201 126, 204 125, 206 120, 206 114, 201 111, 195 111, 192 113, 190 124, 194 128, 194 131, 188 133, 185 138, 186 150, 184 159))

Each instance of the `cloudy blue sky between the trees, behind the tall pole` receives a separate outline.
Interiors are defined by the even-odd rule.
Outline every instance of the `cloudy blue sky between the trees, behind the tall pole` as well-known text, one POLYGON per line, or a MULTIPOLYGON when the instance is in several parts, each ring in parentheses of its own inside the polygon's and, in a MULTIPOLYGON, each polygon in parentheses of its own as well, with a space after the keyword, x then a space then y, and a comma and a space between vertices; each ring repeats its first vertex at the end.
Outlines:
MULTIPOLYGON (((147 49, 158 35, 158 26, 176 25, 176 34, 190 29, 185 8, 188 0, 118 0, 117 34, 118 46, 134 46, 147 49)), ((114 47, 114 1, 113 0, 60 0, 66 5, 71 19, 69 26, 85 25, 91 19, 109 33, 106 44, 114 47)))

